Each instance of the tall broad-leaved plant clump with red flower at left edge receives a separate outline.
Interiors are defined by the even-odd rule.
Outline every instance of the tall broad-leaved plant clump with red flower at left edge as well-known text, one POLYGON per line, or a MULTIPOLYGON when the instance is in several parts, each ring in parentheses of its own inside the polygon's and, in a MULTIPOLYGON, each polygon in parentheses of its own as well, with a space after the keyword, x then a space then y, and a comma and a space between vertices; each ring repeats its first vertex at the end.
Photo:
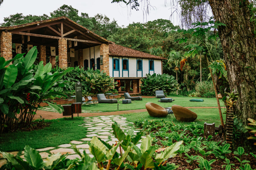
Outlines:
POLYGON ((0 133, 13 130, 18 124, 30 124, 41 102, 48 103, 59 113, 63 109, 44 99, 64 96, 54 92, 52 87, 62 87, 65 82, 56 81, 74 68, 51 73, 51 63, 44 66, 41 61, 35 70, 36 46, 25 57, 23 55, 17 54, 8 61, 0 57, 0 133), (12 61, 13 64, 8 66, 12 61))

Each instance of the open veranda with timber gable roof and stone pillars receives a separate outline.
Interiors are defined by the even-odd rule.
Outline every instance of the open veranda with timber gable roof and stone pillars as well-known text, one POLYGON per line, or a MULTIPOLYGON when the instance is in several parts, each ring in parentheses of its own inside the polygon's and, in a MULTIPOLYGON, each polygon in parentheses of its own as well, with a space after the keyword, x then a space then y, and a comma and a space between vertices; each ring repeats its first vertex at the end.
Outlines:
MULTIPOLYGON (((37 46, 37 61, 43 61, 44 65, 51 62, 52 67, 84 67, 83 49, 94 46, 100 46, 100 56, 104 59, 108 56, 104 47, 109 43, 111 41, 96 35, 67 17, 0 27, 1 57, 10 60, 17 53, 27 53, 32 46, 37 46), (72 57, 75 55, 74 62, 72 57), (56 56, 59 56, 58 63, 55 60, 56 56), (71 60, 73 60, 72 65, 71 60)), ((100 69, 104 70, 103 67, 100 69)))

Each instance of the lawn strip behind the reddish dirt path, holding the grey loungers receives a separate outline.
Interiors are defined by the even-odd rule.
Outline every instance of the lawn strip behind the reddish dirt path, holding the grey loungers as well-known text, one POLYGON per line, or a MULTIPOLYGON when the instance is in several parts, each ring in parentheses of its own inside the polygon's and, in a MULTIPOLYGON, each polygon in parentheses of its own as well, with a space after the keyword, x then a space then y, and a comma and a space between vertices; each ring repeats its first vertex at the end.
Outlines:
MULTIPOLYGON (((217 100, 215 98, 203 98, 203 97, 183 97, 179 95, 171 95, 168 96, 175 101, 172 103, 160 103, 158 102, 157 98, 143 98, 142 101, 132 101, 131 104, 122 104, 122 99, 117 99, 118 103, 98 103, 98 106, 92 105, 91 106, 82 106, 84 110, 92 110, 92 111, 117 111, 117 104, 119 104, 119 110, 135 110, 135 109, 145 109, 145 104, 147 102, 156 103, 163 107, 171 107, 174 104, 180 106, 215 106, 217 107, 217 100), (204 99, 203 102, 190 102, 190 99, 204 99)), ((124 98, 123 98, 124 99, 124 98)), ((222 101, 220 100, 221 106, 224 106, 222 101)))

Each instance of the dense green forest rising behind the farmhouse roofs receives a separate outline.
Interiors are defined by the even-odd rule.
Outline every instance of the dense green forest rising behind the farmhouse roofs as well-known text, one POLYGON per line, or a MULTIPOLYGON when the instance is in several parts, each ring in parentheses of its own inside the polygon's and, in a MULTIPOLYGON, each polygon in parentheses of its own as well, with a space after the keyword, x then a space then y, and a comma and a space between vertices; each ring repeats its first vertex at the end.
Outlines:
MULTIPOLYGON (((193 56, 186 61, 186 65, 182 71, 180 69, 180 61, 190 55, 189 44, 197 43, 191 34, 182 32, 179 26, 174 26, 170 20, 157 19, 146 23, 132 23, 126 27, 121 27, 116 20, 112 20, 105 15, 97 14, 94 17, 89 17, 87 13, 79 13, 72 6, 62 5, 50 15, 26 15, 17 13, 4 18, 4 23, 1 26, 19 25, 38 20, 45 20, 66 16, 96 34, 135 50, 140 50, 153 55, 158 55, 168 58, 163 61, 163 73, 167 73, 178 77, 178 83, 181 88, 193 90, 196 82, 200 81, 200 58, 201 58, 201 73, 202 81, 208 80, 209 69, 207 62, 201 53, 193 53, 193 56), (176 41, 177 39, 186 38, 189 41, 176 41), (200 57, 201 56, 201 57, 200 57)), ((213 60, 223 58, 223 50, 218 37, 209 39, 212 35, 212 30, 206 33, 205 41, 210 48, 211 57, 213 60)))

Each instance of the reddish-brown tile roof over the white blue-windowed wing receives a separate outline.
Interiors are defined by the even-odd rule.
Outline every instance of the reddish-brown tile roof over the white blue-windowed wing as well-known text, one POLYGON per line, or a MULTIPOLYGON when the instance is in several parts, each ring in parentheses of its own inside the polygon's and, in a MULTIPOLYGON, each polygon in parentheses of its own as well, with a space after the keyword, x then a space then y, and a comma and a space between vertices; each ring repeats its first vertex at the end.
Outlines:
POLYGON ((134 50, 128 47, 117 44, 109 44, 109 55, 110 56, 120 56, 120 57, 132 57, 132 58, 143 58, 143 59, 157 59, 165 60, 164 57, 159 57, 156 55, 151 55, 138 50, 134 50))

